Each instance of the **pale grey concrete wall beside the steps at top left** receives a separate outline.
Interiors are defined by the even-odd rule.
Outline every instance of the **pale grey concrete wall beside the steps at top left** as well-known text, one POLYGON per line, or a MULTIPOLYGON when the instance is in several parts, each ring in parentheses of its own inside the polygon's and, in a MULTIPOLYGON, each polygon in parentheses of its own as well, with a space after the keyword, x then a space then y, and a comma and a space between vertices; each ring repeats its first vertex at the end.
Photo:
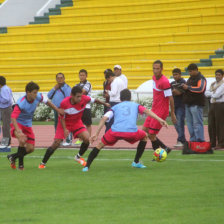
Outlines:
POLYGON ((0 6, 0 27, 23 26, 43 15, 60 0, 6 0, 0 6))

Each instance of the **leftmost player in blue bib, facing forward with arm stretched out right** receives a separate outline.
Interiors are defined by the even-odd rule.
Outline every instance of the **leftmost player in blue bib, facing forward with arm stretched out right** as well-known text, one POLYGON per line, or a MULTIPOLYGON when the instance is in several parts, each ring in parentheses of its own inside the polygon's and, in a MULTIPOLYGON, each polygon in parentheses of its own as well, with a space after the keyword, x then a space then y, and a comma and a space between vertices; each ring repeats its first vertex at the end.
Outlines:
POLYGON ((32 129, 32 118, 38 104, 43 102, 58 113, 63 114, 63 110, 57 108, 41 93, 38 93, 38 84, 29 82, 25 91, 26 95, 17 101, 11 115, 11 136, 16 137, 19 141, 18 152, 7 156, 12 169, 16 169, 16 159, 19 158, 20 170, 24 169, 24 156, 34 151, 35 136, 32 129))

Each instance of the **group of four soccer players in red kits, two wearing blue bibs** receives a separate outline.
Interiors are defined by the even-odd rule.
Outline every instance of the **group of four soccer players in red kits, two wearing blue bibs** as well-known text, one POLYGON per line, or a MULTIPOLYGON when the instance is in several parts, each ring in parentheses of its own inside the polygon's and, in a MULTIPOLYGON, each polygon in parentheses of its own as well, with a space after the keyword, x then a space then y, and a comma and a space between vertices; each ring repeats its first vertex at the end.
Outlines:
POLYGON ((26 85, 26 95, 17 101, 11 115, 11 135, 12 137, 16 137, 19 141, 18 151, 7 156, 11 168, 16 169, 16 160, 18 159, 19 169, 23 170, 24 156, 34 151, 35 137, 32 130, 32 118, 40 102, 47 104, 59 114, 54 141, 46 150, 44 158, 39 165, 40 169, 46 167, 46 163, 51 155, 69 133, 72 133, 74 138, 82 140, 75 160, 84 166, 82 169, 84 172, 89 170, 91 163, 105 145, 114 145, 121 139, 131 144, 139 141, 136 155, 132 163, 132 167, 135 168, 146 167, 140 163, 139 160, 145 150, 148 138, 151 140, 154 150, 162 147, 169 153, 171 149, 156 136, 162 126, 168 126, 165 120, 169 115, 169 102, 172 121, 174 123, 176 122, 170 83, 162 74, 162 70, 162 62, 159 60, 155 61, 153 63, 153 104, 151 110, 135 102, 131 102, 131 92, 128 89, 124 89, 120 93, 121 103, 113 106, 103 115, 98 129, 92 137, 89 136, 89 132, 81 120, 86 104, 91 102, 110 107, 108 103, 83 95, 82 89, 79 86, 75 86, 71 90, 71 96, 66 97, 58 108, 49 99, 45 99, 43 95, 38 92, 38 84, 34 82, 28 83, 26 85), (143 125, 143 130, 139 130, 136 125, 138 113, 144 113, 148 116, 143 125), (85 161, 83 155, 87 151, 89 144, 97 140, 105 122, 108 122, 112 118, 114 118, 114 123, 111 129, 103 135, 101 141, 92 149, 87 161, 85 161))

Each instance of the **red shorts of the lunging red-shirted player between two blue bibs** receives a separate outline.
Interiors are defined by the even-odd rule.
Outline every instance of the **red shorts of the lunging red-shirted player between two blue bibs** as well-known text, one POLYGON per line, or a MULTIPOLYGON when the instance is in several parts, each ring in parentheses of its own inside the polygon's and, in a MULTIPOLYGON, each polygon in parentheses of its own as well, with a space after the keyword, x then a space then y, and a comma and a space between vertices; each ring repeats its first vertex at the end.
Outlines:
MULTIPOLYGON (((78 134, 87 131, 86 127, 84 126, 84 124, 82 123, 82 121, 78 121, 75 124, 66 124, 66 128, 69 130, 69 132, 72 132, 74 138, 77 137, 78 134)), ((55 139, 65 139, 64 136, 64 130, 63 127, 61 125, 61 120, 58 119, 58 125, 57 125, 57 129, 56 129, 56 133, 55 133, 55 139)))

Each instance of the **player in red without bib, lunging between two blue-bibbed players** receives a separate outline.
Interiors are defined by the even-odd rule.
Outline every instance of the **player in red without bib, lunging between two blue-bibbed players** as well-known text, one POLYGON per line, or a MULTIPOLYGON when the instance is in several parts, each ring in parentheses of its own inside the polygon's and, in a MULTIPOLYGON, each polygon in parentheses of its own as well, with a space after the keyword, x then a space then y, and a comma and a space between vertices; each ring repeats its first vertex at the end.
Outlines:
POLYGON ((101 102, 98 99, 93 99, 89 96, 82 94, 82 88, 74 86, 71 91, 71 96, 66 97, 60 105, 64 109, 64 116, 59 117, 58 126, 53 144, 47 149, 42 162, 39 165, 40 169, 46 167, 46 163, 60 146, 60 143, 66 138, 69 132, 73 133, 74 138, 80 138, 83 142, 80 146, 79 153, 75 156, 75 160, 81 165, 85 165, 86 161, 81 157, 89 147, 89 132, 82 122, 83 111, 86 104, 98 103, 110 107, 109 104, 101 102))

